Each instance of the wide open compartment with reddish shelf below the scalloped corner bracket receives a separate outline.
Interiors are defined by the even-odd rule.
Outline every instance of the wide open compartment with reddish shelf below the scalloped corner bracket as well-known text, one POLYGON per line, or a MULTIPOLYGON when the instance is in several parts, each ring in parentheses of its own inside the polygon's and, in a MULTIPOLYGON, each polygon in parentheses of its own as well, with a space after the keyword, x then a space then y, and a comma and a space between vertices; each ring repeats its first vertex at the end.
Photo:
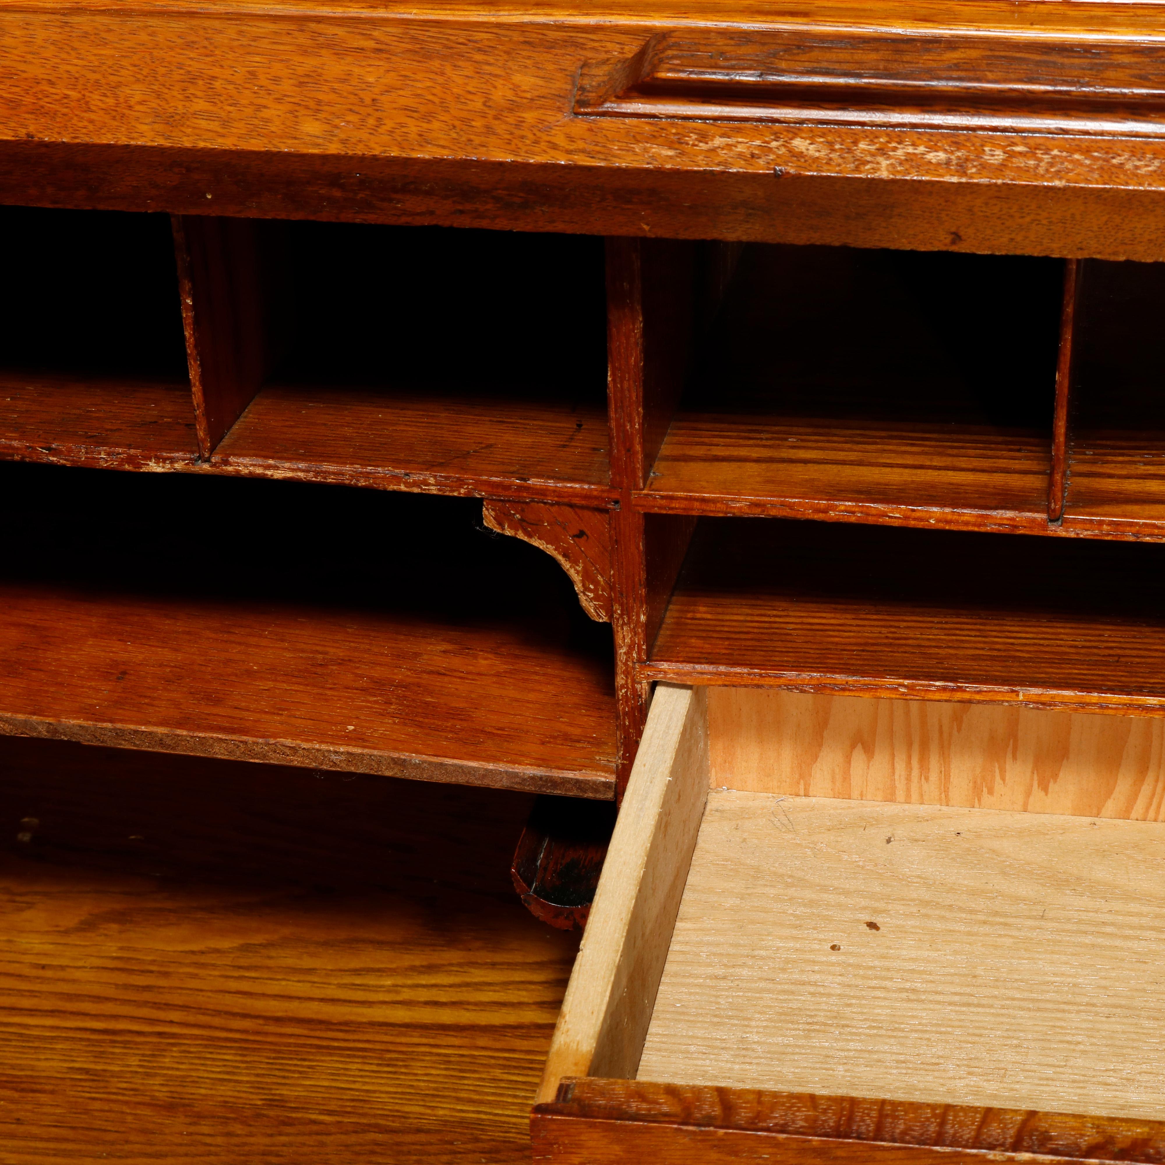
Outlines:
POLYGON ((5 468, 5 732, 613 796, 609 628, 473 503, 5 468))

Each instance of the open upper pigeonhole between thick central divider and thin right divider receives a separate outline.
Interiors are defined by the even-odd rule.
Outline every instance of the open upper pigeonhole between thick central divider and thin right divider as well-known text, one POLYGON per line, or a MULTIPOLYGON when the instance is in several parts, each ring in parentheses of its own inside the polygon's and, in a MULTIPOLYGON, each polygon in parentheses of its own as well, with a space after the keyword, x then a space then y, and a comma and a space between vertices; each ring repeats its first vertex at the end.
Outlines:
POLYGON ((746 248, 644 510, 1046 527, 1059 264, 746 248))

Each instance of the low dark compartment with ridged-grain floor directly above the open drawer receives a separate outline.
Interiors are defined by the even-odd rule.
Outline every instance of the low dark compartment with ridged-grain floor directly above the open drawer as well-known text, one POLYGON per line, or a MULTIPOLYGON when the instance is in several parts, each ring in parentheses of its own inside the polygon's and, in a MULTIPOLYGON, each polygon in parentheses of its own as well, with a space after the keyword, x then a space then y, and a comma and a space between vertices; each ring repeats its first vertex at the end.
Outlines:
POLYGON ((1156 545, 701 518, 644 679, 1165 709, 1156 545))

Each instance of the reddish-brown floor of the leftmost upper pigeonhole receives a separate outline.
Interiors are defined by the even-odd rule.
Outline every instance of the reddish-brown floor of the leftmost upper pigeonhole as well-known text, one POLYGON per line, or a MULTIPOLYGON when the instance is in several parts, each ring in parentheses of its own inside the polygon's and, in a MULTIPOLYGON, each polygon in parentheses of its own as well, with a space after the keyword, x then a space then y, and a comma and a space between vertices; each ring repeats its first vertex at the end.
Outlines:
POLYGON ((198 443, 190 387, 0 370, 0 457, 134 469, 192 466, 198 443))

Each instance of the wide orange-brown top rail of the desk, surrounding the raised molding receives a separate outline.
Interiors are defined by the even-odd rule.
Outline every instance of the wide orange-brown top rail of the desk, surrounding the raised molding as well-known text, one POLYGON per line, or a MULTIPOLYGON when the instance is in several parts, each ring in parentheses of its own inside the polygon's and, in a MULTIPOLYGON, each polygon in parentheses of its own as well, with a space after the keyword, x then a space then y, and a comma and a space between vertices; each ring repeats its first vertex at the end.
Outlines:
MULTIPOLYGON (((719 3, 683 14, 675 6, 614 7, 614 19, 589 10, 567 14, 560 5, 536 6, 525 16, 492 5, 409 9, 401 19, 405 13, 397 6, 318 13, 303 5, 260 10, 224 3, 198 9, 197 22, 189 19, 193 9, 182 5, 132 13, 103 5, 9 7, 0 137, 68 143, 68 150, 112 148, 104 181, 91 186, 96 197, 134 209, 247 213, 241 205, 267 213, 287 199, 298 213, 350 213, 344 190, 331 179, 318 181, 331 175, 353 190, 355 200, 377 205, 395 221, 412 216, 412 221, 459 218, 467 225, 569 230, 556 225, 569 214, 576 223, 589 218, 596 232, 634 236, 645 225, 672 236, 809 241, 816 234, 816 241, 864 246, 901 240, 1111 259, 1151 260, 1165 253, 1157 205, 1165 172, 1160 141, 1024 135, 1021 142, 1014 135, 965 130, 698 121, 677 128, 664 121, 570 116, 585 61, 633 55, 661 21, 692 29, 744 19, 719 3), (377 69, 367 68, 369 56, 377 69), (78 103, 75 94, 87 76, 107 84, 90 87, 86 101, 78 103), (263 82, 240 89, 240 77, 263 82), (456 116, 450 116, 450 93, 459 97, 456 116), (119 154, 129 142, 130 154, 119 154), (139 161, 150 150, 174 151, 170 164, 184 172, 161 184, 147 178, 136 200, 125 184, 141 181, 139 161), (226 164, 207 169, 209 151, 223 151, 226 164), (235 151, 262 155, 261 164, 240 169, 230 156, 235 151), (348 161, 334 167, 332 160, 340 157, 348 161), (317 179, 289 184, 274 177, 274 170, 287 174, 284 167, 297 169, 305 160, 317 179), (431 175, 443 175, 438 185, 445 189, 424 178, 419 185, 384 185, 375 165, 382 160, 404 170, 414 160, 439 160, 431 175), (490 184, 473 182, 472 175, 492 162, 545 167, 559 192, 543 195, 521 179, 509 190, 494 184, 488 193, 490 184), (626 191, 606 185, 610 178, 626 185, 616 176, 620 169, 641 171, 644 197, 628 202, 626 191), (671 175, 655 172, 662 169, 671 175), (791 179, 783 191, 783 183, 772 181, 778 170, 791 179), (207 184, 211 174, 218 178, 207 184), (797 190, 802 177, 810 185, 797 190), (595 179, 598 218, 585 205, 588 199, 578 204, 579 178, 595 179), (938 181, 922 190, 918 178, 938 181), (171 197, 175 188, 183 192, 171 197), (1137 191, 1149 197, 1127 197, 1137 191), (856 213, 855 195, 863 204, 856 213), (482 196, 490 205, 480 205, 482 196), (790 198, 804 216, 781 212, 790 198), (216 199, 218 205, 210 206, 216 199), (877 212, 878 203, 888 213, 877 212), (718 221, 708 224, 714 206, 720 207, 712 211, 718 221), (746 233, 728 233, 741 230, 746 233)), ((835 19, 845 28, 856 22, 898 31, 979 29, 1002 34, 1001 40, 1017 33, 1021 40, 1096 34, 1137 43, 1156 35, 1152 6, 1121 8, 1131 10, 1078 14, 1032 5, 1024 8, 1021 29, 1010 14, 986 3, 960 6, 958 16, 927 2, 875 10, 849 3, 812 13, 758 5, 754 12, 757 24, 786 29, 835 19)), ((65 154, 50 148, 41 156, 56 157, 52 176, 33 176, 31 184, 17 176, 15 200, 38 200, 41 190, 49 199, 73 197, 80 176, 70 172, 65 154)), ((628 181, 634 186, 640 179, 628 181)))

